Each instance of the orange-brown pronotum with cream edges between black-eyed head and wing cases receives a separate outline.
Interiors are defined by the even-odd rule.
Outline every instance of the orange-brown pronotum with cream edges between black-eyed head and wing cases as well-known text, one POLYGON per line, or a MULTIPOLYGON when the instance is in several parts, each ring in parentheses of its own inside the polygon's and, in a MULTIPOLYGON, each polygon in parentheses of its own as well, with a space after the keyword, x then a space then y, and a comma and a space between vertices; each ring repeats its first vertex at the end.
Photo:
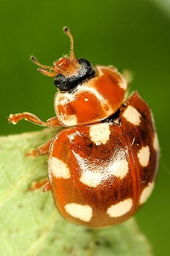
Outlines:
POLYGON ((72 92, 58 92, 54 109, 63 126, 100 122, 116 112, 124 101, 127 81, 117 69, 96 66, 96 76, 72 92))

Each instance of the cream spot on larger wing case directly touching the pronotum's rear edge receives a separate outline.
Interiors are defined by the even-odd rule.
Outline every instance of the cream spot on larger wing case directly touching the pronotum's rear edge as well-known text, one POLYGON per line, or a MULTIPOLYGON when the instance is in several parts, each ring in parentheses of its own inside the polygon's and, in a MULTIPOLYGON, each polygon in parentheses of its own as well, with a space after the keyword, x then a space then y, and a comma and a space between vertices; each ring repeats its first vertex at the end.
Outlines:
POLYGON ((90 138, 91 141, 96 143, 96 145, 106 144, 109 140, 111 130, 109 125, 106 123, 100 123, 99 125, 92 125, 90 127, 90 138))

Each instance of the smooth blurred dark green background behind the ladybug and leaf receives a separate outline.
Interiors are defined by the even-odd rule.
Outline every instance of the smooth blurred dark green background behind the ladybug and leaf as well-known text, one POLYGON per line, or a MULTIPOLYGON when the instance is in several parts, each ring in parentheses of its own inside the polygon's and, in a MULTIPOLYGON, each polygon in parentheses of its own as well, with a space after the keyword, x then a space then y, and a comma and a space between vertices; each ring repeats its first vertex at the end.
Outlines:
POLYGON ((28 122, 8 125, 11 113, 31 112, 44 121, 54 116, 53 79, 36 72, 34 55, 51 65, 69 53, 93 65, 111 65, 133 73, 130 90, 137 89, 150 105, 158 129, 159 175, 149 202, 137 214, 138 224, 155 255, 169 255, 169 93, 170 1, 1 0, 1 135, 41 130, 28 122))

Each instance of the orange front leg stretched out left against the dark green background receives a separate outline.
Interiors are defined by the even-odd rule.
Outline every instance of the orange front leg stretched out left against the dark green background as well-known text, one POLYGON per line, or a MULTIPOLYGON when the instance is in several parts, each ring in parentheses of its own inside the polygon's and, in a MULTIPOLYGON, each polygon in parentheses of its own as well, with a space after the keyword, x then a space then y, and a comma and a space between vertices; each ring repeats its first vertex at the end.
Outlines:
POLYGON ((13 125, 16 125, 20 120, 25 119, 26 121, 35 123, 36 125, 45 126, 45 127, 56 127, 61 126, 61 123, 59 123, 57 117, 52 117, 48 119, 46 122, 41 121, 40 118, 38 118, 36 115, 24 112, 19 114, 11 114, 10 117, 8 117, 9 123, 13 123, 13 125))

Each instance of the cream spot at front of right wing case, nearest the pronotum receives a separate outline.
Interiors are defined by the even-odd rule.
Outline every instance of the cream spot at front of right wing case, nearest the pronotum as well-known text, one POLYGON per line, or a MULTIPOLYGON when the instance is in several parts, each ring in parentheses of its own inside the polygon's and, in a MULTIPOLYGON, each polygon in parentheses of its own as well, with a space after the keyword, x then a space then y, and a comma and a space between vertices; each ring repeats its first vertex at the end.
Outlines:
POLYGON ((122 116, 133 125, 140 125, 141 123, 142 115, 133 106, 129 105, 122 116))

